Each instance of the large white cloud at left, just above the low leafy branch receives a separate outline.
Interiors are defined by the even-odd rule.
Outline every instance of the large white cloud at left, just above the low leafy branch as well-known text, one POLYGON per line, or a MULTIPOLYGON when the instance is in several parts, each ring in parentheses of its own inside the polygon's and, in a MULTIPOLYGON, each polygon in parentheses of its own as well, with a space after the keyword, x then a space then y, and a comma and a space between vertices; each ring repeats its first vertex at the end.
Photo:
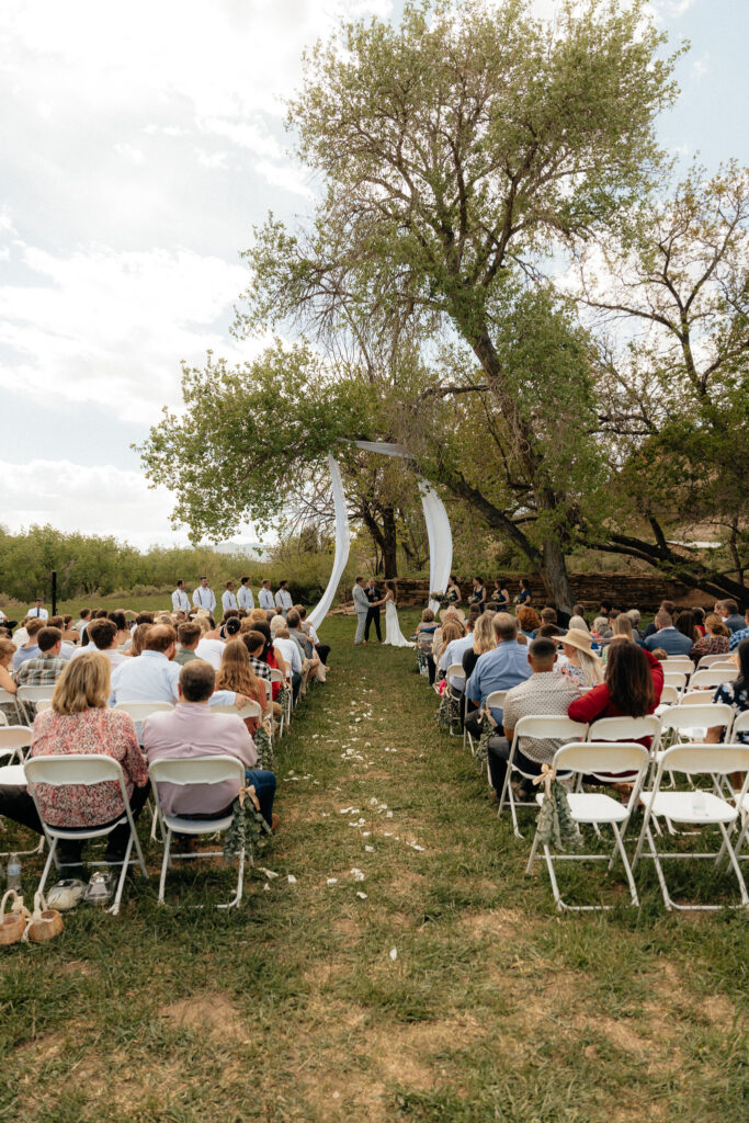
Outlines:
POLYGON ((0 385, 36 401, 92 401, 148 422, 180 401, 180 359, 259 347, 228 343, 220 322, 246 281, 238 263, 185 249, 13 249, 31 283, 0 286, 0 344, 11 351, 0 385))

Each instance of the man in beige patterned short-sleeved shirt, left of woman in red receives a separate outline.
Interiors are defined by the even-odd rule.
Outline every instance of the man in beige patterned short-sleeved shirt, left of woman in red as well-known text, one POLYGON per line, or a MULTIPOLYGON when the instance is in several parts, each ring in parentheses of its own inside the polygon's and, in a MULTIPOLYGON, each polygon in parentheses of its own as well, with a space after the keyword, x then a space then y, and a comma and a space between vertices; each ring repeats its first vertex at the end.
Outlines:
MULTIPOLYGON (((504 697, 504 736, 493 737, 488 742, 488 770, 492 787, 497 796, 502 792, 504 775, 510 759, 510 747, 515 725, 521 718, 537 714, 557 714, 567 716, 567 710, 575 699, 579 697, 577 685, 563 675, 554 674, 557 661, 556 643, 551 639, 535 639, 528 648, 530 678, 519 686, 513 686, 504 697)), ((514 759, 518 767, 532 776, 540 775, 541 765, 551 764, 554 754, 560 745, 569 740, 521 738, 515 749, 514 759)), ((517 789, 520 798, 532 791, 532 780, 523 780, 517 789)))

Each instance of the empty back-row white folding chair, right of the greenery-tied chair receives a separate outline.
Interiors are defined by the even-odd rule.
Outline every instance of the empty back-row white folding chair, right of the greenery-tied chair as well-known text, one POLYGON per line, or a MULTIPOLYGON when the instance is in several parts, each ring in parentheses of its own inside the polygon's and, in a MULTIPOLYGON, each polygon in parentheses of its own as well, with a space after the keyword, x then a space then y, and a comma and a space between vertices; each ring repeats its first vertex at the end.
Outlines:
MULTIPOLYGON (((748 787, 749 746, 675 745, 673 748, 666 749, 663 754, 660 763, 658 764, 654 788, 651 792, 648 792, 647 795, 643 793, 645 816, 642 820, 642 828, 640 830, 637 849, 634 851, 634 858, 632 860, 632 869, 637 867, 640 858, 649 858, 652 860, 658 875, 664 903, 666 909, 669 911, 672 909, 677 909, 679 911, 705 912, 715 911, 722 909, 723 906, 677 904, 668 892, 661 861, 712 858, 715 859, 715 864, 718 865, 723 855, 728 855, 729 862, 739 883, 741 906, 749 906, 747 886, 743 877, 741 876, 737 853, 734 848, 731 846, 731 839, 728 832, 728 827, 732 827, 737 822, 739 807, 747 798, 748 787), (741 791, 736 797, 736 804, 731 804, 716 793, 706 792, 702 788, 693 788, 688 792, 663 792, 661 783, 666 772, 682 774, 687 776, 689 779, 693 776, 700 775, 728 777, 732 773, 745 773, 745 780, 741 786, 741 791), (712 851, 709 853, 694 853, 685 850, 670 852, 658 850, 656 841, 652 837, 652 831, 650 830, 650 820, 656 815, 663 816, 670 822, 682 823, 692 828, 716 827, 721 833, 723 844, 719 851, 712 851), (648 843, 648 850, 643 850, 646 842, 648 843)), ((745 832, 742 831, 739 834, 739 838, 737 839, 737 847, 741 844, 743 833, 745 832)))

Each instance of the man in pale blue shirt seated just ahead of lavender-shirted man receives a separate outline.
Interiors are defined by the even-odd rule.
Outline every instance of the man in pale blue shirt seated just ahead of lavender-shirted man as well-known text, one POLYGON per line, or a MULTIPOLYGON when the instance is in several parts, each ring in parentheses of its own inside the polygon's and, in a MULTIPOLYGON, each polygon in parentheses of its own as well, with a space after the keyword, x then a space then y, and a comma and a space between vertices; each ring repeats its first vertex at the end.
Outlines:
MULTIPOLYGON (((182 667, 174 661, 176 632, 170 624, 154 624, 146 637, 146 648, 131 659, 126 659, 112 670, 110 705, 118 702, 171 702, 179 701, 177 682, 182 667)), ((245 704, 241 694, 234 691, 216 691, 210 705, 245 704)), ((136 722, 138 740, 139 722, 136 722)))

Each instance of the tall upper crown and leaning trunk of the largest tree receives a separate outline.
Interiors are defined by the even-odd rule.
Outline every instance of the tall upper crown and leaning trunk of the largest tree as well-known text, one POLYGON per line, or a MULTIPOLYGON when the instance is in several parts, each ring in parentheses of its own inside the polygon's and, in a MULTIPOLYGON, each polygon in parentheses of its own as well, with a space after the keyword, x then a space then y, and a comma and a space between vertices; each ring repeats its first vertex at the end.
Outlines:
POLYGON ((540 568, 569 609, 564 481, 548 485, 547 437, 518 401, 496 310, 518 268, 623 221, 649 189, 654 120, 675 90, 641 4, 570 2, 552 26, 531 7, 408 3, 398 27, 354 22, 312 51, 290 124, 322 200, 299 230, 257 231, 237 330, 286 320, 318 344, 373 322, 455 332, 514 441, 548 528, 540 568))

